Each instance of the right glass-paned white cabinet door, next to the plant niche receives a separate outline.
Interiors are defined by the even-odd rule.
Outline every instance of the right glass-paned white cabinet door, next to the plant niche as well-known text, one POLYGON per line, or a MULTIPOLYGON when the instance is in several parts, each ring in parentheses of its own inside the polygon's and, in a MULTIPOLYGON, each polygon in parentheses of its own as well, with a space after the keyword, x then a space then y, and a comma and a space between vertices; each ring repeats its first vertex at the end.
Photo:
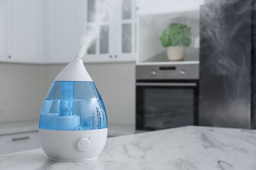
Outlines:
POLYGON ((115 56, 119 61, 135 61, 135 1, 118 1, 119 15, 116 15, 115 56))

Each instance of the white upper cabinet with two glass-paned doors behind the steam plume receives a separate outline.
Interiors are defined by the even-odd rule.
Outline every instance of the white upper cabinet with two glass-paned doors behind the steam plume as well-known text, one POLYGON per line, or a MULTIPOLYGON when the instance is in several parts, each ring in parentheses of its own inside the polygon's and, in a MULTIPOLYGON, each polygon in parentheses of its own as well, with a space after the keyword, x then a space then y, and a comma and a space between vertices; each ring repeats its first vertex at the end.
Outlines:
MULTIPOLYGON (((83 7, 86 7, 84 16, 87 26, 92 23, 89 14, 94 13, 95 1, 87 0, 83 4, 83 7)), ((112 5, 114 8, 110 9, 110 12, 114 12, 110 14, 112 18, 102 22, 104 29, 87 50, 83 61, 135 61, 135 0, 121 0, 115 3, 112 5)))

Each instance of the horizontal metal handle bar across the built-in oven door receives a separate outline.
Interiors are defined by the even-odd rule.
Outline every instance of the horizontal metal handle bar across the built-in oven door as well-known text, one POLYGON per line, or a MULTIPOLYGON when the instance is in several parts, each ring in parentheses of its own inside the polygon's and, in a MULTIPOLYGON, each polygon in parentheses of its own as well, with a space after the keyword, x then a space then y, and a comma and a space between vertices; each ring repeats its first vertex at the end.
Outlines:
POLYGON ((196 83, 194 82, 188 82, 188 83, 182 83, 182 82, 137 82, 136 86, 188 86, 188 87, 196 87, 196 83))

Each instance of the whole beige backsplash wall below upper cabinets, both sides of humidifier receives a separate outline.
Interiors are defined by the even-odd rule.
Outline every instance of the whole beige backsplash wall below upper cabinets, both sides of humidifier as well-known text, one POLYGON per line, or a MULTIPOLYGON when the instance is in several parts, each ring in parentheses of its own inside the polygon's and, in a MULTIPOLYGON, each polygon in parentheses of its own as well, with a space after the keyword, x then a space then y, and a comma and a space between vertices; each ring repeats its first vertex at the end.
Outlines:
MULTIPOLYGON (((0 122, 37 120, 45 95, 66 64, 0 63, 0 122)), ((135 124, 135 63, 86 63, 109 124, 135 124)))

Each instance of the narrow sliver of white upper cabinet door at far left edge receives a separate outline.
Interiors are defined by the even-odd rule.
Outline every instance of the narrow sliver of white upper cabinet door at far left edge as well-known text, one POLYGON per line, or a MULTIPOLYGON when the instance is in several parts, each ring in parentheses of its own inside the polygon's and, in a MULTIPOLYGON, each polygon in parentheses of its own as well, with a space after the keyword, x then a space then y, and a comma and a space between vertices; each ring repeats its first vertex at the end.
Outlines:
POLYGON ((6 0, 0 0, 0 61, 5 61, 5 5, 6 0))

